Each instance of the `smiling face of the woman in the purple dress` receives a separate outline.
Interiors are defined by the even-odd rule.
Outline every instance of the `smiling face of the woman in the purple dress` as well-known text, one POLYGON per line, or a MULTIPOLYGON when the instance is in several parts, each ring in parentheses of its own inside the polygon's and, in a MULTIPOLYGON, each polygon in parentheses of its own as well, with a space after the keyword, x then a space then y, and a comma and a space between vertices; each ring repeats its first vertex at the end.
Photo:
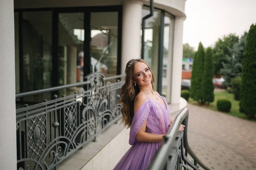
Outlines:
POLYGON ((137 62, 134 65, 134 83, 139 87, 151 84, 152 73, 144 62, 137 62))

